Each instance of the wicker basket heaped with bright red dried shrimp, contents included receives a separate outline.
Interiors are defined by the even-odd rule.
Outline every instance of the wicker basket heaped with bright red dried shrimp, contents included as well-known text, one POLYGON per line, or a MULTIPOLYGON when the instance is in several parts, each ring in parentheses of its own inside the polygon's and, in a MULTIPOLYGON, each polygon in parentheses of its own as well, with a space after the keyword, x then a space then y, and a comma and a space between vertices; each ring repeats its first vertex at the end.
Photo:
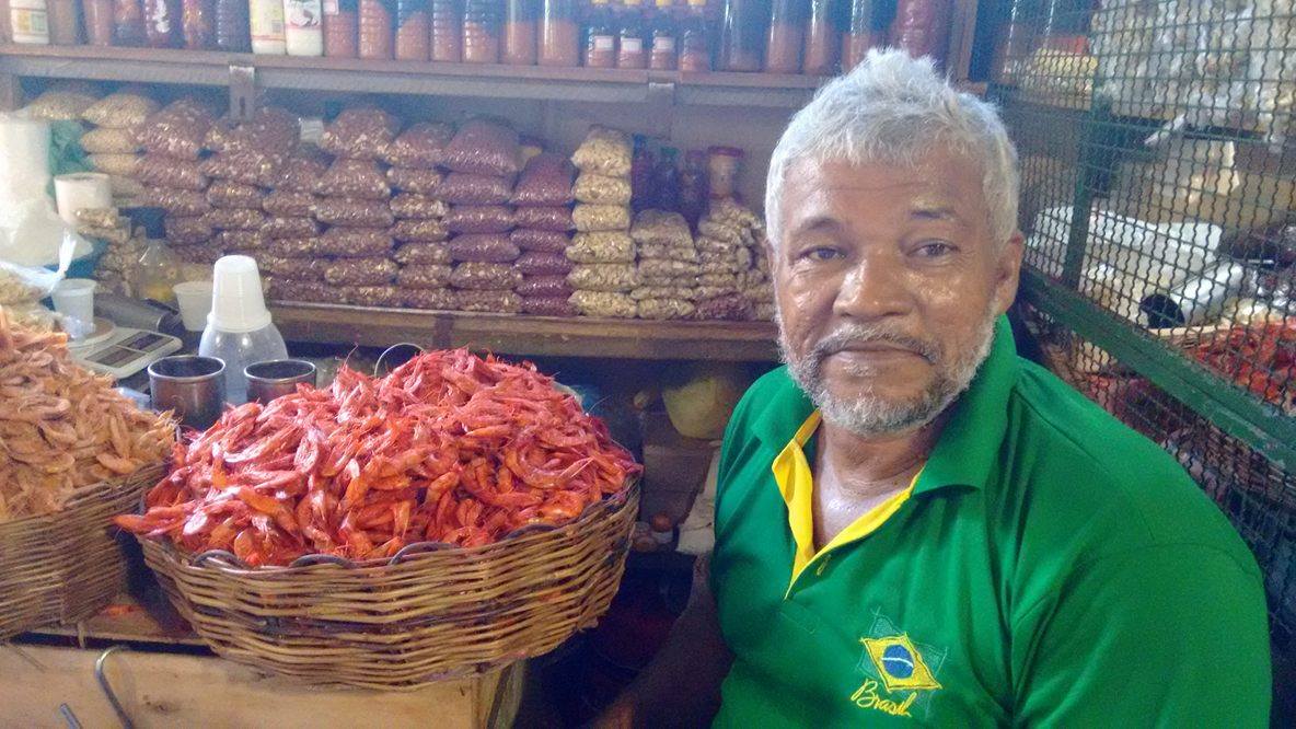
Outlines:
POLYGON ((534 367, 442 352, 227 411, 118 523, 218 654, 410 689, 594 625, 638 472, 534 367))

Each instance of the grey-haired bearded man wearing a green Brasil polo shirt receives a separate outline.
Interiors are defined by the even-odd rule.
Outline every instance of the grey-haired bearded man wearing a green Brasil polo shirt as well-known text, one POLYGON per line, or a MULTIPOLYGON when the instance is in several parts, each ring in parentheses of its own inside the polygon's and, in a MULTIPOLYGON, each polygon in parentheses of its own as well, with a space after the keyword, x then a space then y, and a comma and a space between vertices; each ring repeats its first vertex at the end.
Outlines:
POLYGON ((710 590, 609 721, 1267 724, 1247 546, 1017 358, 1015 165, 993 108, 897 52, 792 119, 766 192, 787 367, 724 437, 710 590))

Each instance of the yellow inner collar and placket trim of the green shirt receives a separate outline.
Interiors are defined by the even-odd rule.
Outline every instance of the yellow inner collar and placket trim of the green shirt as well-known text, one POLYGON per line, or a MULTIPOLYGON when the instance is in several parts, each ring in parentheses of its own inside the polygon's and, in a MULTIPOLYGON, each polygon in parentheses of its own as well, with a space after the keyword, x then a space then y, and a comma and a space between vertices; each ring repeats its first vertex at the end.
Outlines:
POLYGON ((796 555, 792 560, 792 580, 788 582, 789 592, 806 567, 823 560, 831 551, 841 546, 867 537, 881 527, 899 510, 901 505, 908 501, 910 494, 914 493, 914 484, 918 483, 918 476, 914 476, 914 480, 910 481, 905 490, 898 492, 896 496, 868 510, 867 514, 861 515, 849 527, 837 533, 822 550, 815 551, 814 508, 811 499, 811 494, 814 493, 814 470, 810 468, 810 462, 806 459, 805 445, 819 428, 819 423, 820 415, 815 410, 801 424, 801 428, 792 436, 792 440, 788 441, 788 445, 784 446, 771 466, 774 481, 779 485, 779 493, 783 494, 784 503, 788 505, 788 527, 792 529, 792 538, 797 544, 796 555))

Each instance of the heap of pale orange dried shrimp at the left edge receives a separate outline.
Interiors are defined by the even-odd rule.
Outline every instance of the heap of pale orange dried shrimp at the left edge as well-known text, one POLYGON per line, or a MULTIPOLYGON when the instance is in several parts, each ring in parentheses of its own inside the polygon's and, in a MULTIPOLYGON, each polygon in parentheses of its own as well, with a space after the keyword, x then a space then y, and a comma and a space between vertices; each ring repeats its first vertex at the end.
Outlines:
POLYGON ((73 490, 161 463, 175 425, 73 363, 67 336, 0 306, 0 521, 60 511, 73 490))

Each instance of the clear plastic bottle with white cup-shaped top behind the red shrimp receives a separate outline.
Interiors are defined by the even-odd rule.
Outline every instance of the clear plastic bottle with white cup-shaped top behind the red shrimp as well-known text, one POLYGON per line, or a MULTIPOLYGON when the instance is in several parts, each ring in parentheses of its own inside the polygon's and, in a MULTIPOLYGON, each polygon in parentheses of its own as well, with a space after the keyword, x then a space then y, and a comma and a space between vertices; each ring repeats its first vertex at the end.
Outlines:
POLYGON ((260 271, 253 258, 226 256, 216 261, 211 314, 198 342, 198 354, 226 363, 226 398, 233 405, 248 401, 244 367, 288 358, 284 337, 266 309, 260 271))

